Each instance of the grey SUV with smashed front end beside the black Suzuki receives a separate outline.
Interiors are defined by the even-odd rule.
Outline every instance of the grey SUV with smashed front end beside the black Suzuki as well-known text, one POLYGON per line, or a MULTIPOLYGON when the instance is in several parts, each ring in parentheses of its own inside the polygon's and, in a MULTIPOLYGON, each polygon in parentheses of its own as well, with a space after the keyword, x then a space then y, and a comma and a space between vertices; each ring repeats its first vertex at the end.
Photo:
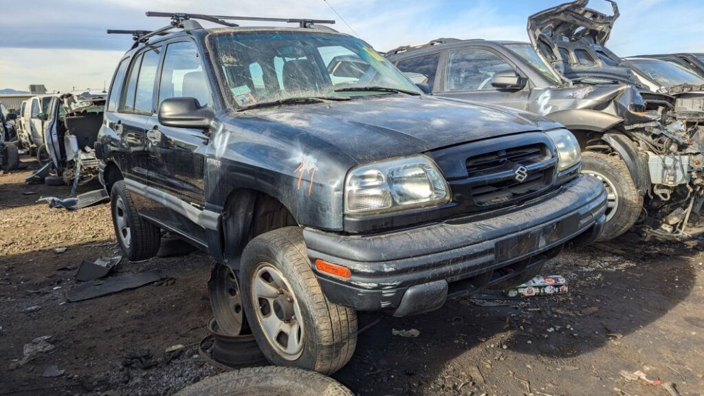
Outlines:
POLYGON ((438 39, 387 56, 404 72, 427 75, 436 95, 510 106, 564 124, 582 147, 583 171, 603 180, 609 192, 599 239, 617 237, 639 220, 646 235, 686 235, 704 192, 696 119, 681 123, 672 97, 640 87, 617 56, 584 42, 602 37, 607 20, 585 4, 532 16, 529 32, 537 44, 438 39))

